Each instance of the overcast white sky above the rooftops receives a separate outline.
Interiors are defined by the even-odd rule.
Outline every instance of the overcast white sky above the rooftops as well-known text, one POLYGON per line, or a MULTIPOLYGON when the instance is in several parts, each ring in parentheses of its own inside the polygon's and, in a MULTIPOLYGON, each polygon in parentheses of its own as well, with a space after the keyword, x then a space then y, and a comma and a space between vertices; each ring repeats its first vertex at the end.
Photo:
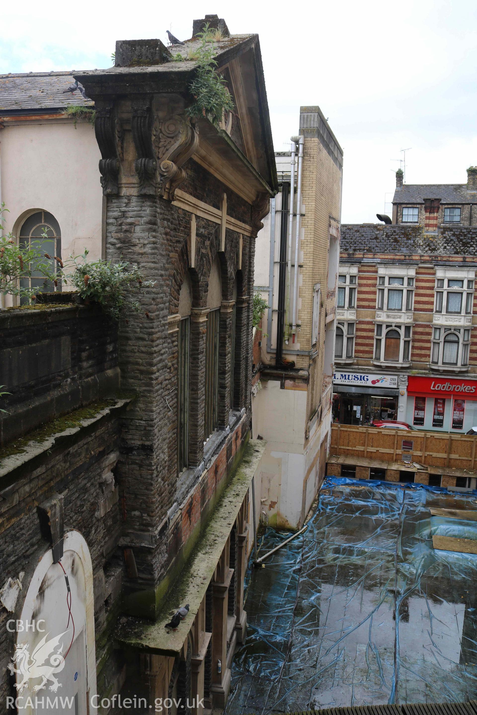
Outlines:
POLYGON ((400 149, 412 147, 408 183, 464 183, 477 164, 476 0, 9 2, 0 72, 110 66, 117 39, 187 39, 206 13, 260 35, 275 150, 300 105, 328 117, 345 152, 343 222, 384 211, 400 149))

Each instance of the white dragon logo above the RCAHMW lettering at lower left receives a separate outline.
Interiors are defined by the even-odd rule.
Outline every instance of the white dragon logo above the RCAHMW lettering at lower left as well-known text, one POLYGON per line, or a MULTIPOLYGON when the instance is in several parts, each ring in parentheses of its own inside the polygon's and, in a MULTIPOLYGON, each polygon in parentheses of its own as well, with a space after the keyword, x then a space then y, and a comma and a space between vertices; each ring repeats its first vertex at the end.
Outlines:
POLYGON ((22 680, 15 684, 19 693, 26 688, 30 680, 38 678, 41 678, 41 683, 34 686, 34 692, 44 688, 48 681, 51 681, 49 689, 54 692, 62 687, 62 684, 55 678, 55 674, 64 669, 63 645, 60 645, 60 641, 67 632, 64 631, 64 633, 54 636, 49 641, 46 641, 49 636, 49 633, 46 633, 46 636, 43 636, 35 647, 31 654, 31 659, 28 645, 25 643, 16 644, 14 656, 8 665, 8 669, 12 675, 19 674, 22 676, 22 680), (59 649, 55 651, 56 648, 59 649), (15 665, 18 667, 16 668, 15 665))

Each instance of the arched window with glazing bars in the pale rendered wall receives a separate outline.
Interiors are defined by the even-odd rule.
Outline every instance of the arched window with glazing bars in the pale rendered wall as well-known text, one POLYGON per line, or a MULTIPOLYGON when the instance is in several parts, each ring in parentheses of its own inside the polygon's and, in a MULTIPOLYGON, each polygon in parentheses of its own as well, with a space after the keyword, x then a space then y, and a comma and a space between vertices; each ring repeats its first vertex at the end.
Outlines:
MULTIPOLYGON (((51 272, 59 275, 59 264, 54 260, 54 256, 62 257, 62 235, 59 223, 55 217, 47 211, 37 211, 24 220, 19 231, 19 246, 26 249, 36 248, 42 253, 51 256, 51 272), (44 237, 46 235, 46 237, 44 237)), ((21 287, 36 288, 44 292, 62 290, 61 282, 57 285, 54 282, 44 280, 43 277, 25 277, 20 279, 21 287)), ((21 302, 28 302, 26 298, 21 302)))

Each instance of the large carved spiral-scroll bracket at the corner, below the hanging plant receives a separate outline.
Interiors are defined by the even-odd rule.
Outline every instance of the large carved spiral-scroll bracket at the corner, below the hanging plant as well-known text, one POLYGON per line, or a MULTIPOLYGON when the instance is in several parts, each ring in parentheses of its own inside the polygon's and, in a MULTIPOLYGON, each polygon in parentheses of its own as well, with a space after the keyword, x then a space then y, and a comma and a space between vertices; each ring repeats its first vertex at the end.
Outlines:
POLYGON ((163 121, 156 117, 152 126, 152 144, 158 164, 159 194, 172 201, 175 190, 185 179, 182 164, 192 157, 199 144, 197 127, 179 114, 163 121))

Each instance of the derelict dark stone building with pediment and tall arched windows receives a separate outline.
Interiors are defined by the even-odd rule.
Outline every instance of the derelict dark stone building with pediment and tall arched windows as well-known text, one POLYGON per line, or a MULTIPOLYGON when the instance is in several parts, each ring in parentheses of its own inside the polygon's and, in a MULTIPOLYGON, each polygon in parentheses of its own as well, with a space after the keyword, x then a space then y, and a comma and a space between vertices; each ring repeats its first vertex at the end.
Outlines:
MULTIPOLYGON (((63 643, 61 687, 40 693, 73 696, 77 714, 94 711, 94 694, 104 713, 122 694, 144 697, 144 711, 175 697, 196 714, 197 696, 210 709, 230 690, 262 453, 249 443, 255 237, 276 174, 258 38, 220 23, 235 104, 220 127, 186 112, 195 36, 182 60, 159 40, 120 41, 114 67, 74 72, 96 111, 102 255, 155 283, 119 326, 67 292, 0 311, 2 708, 34 696, 21 647, 31 656, 44 636, 10 632, 11 619, 42 620, 63 643), (164 628, 185 603, 177 630, 164 628)), ((53 99, 37 108, 17 89, 9 103, 21 77, 34 83, 0 78, 5 144, 72 121, 71 74, 43 75, 53 99)), ((54 216, 32 201, 11 217, 19 230, 39 209, 54 216)))

